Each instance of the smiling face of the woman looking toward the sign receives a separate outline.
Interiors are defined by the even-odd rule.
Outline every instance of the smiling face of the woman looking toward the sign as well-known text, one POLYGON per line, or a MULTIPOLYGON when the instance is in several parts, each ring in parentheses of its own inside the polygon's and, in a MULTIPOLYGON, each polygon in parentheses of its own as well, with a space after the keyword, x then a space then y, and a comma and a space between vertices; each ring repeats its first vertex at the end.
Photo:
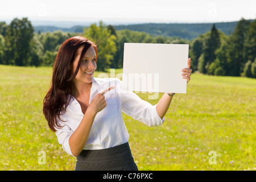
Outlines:
MULTIPOLYGON (((77 49, 76 58, 73 62, 73 73, 75 73, 77 64, 79 63, 80 55, 82 53, 82 49, 84 47, 80 47, 77 49)), ((79 72, 74 78, 74 82, 83 82, 83 83, 91 83, 93 80, 93 73, 97 68, 96 65, 96 52, 92 46, 85 52, 85 55, 81 61, 81 65, 79 68, 79 72)))

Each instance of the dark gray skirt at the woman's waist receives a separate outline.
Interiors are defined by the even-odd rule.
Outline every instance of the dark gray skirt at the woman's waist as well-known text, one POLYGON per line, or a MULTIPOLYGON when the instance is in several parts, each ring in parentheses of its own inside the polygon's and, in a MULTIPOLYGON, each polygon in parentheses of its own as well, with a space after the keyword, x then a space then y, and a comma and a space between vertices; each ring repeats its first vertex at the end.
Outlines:
POLYGON ((75 171, 138 171, 129 143, 101 150, 82 150, 75 171))

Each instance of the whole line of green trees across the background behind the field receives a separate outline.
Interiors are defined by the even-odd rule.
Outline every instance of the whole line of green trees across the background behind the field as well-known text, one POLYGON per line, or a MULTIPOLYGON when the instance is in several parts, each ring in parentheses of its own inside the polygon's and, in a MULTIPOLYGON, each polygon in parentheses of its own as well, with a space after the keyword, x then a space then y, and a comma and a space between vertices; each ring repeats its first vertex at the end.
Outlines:
MULTIPOLYGON (((52 66, 60 45, 73 32, 34 32, 30 20, 15 18, 10 24, 0 22, 0 64, 52 66)), ((122 68, 124 43, 189 44, 193 71, 208 75, 256 78, 256 19, 241 19, 230 35, 213 24, 206 34, 193 40, 152 35, 146 32, 115 30, 103 22, 84 27, 82 36, 98 46, 98 71, 122 68)))

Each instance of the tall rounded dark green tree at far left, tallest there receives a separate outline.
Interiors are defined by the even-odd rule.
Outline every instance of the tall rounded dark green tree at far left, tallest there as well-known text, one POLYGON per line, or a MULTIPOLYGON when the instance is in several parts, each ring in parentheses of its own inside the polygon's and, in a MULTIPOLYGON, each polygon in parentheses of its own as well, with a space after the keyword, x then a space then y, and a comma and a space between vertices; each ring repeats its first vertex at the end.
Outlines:
POLYGON ((27 18, 15 18, 6 29, 6 57, 8 64, 29 65, 30 42, 34 28, 27 18))

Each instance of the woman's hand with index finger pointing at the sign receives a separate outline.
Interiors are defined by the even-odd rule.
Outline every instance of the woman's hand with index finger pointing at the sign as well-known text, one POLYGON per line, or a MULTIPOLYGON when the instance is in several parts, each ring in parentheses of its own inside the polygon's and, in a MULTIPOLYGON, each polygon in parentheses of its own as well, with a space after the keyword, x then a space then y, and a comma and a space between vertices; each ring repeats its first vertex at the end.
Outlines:
POLYGON ((89 105, 90 109, 92 109, 92 111, 94 111, 95 113, 98 113, 102 109, 104 109, 106 107, 106 99, 105 99, 104 94, 114 88, 115 88, 115 86, 110 86, 109 88, 103 90, 102 92, 97 93, 97 95, 90 102, 90 105, 89 105))

